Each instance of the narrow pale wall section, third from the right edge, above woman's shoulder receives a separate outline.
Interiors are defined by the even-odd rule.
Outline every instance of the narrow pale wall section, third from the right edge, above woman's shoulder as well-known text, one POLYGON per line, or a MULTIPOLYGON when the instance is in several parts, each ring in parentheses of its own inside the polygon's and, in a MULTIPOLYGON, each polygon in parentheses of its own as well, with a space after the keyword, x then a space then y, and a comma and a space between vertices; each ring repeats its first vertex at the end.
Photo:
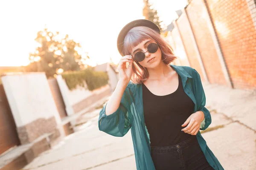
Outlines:
MULTIPOLYGON (((197 57, 197 54, 195 51, 195 47, 193 45, 193 41, 191 38, 192 35, 189 32, 189 23, 188 23, 186 17, 184 16, 184 14, 182 14, 177 19, 177 26, 180 30, 180 36, 184 43, 184 48, 186 50, 186 54, 188 56, 190 66, 192 68, 195 68, 195 70, 198 71, 198 73, 200 75, 203 75, 201 66, 199 64, 198 57, 197 57)), ((204 76, 201 76, 201 80, 204 81, 204 76)))

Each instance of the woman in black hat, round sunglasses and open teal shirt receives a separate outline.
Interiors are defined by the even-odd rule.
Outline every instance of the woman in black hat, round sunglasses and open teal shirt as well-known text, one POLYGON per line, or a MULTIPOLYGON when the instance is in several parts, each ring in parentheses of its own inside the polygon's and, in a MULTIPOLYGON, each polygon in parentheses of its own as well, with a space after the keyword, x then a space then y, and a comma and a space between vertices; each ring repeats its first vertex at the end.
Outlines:
POLYGON ((99 130, 124 136, 131 128, 137 170, 223 170, 199 131, 211 116, 198 72, 170 64, 172 48, 149 20, 128 23, 117 48, 119 82, 99 130))

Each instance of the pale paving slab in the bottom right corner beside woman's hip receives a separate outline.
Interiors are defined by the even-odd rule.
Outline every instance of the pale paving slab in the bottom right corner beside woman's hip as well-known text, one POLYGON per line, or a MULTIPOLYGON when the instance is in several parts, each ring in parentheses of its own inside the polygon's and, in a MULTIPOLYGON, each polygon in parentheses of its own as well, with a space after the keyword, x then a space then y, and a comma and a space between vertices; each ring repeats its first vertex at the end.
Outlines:
POLYGON ((256 170, 256 134, 253 130, 235 122, 202 133, 202 136, 225 170, 256 170))

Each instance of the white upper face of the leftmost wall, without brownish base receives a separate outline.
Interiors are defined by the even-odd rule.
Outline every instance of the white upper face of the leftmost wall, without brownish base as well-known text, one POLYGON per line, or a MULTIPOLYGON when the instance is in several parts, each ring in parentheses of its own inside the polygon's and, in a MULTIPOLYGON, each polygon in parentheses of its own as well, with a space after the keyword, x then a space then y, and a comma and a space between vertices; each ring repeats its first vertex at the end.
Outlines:
POLYGON ((61 122, 44 73, 10 73, 1 79, 17 127, 52 116, 61 122))

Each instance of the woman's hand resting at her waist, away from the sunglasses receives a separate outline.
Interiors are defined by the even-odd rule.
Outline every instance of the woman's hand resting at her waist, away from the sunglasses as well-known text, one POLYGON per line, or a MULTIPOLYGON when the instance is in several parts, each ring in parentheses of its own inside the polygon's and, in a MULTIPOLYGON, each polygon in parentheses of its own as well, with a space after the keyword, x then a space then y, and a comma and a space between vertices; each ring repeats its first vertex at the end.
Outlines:
POLYGON ((182 131, 185 133, 189 133, 191 135, 196 135, 200 129, 200 124, 204 120, 204 112, 202 111, 197 111, 193 113, 192 115, 189 116, 188 119, 186 119, 186 122, 181 125, 182 127, 187 127, 183 128, 182 131))

